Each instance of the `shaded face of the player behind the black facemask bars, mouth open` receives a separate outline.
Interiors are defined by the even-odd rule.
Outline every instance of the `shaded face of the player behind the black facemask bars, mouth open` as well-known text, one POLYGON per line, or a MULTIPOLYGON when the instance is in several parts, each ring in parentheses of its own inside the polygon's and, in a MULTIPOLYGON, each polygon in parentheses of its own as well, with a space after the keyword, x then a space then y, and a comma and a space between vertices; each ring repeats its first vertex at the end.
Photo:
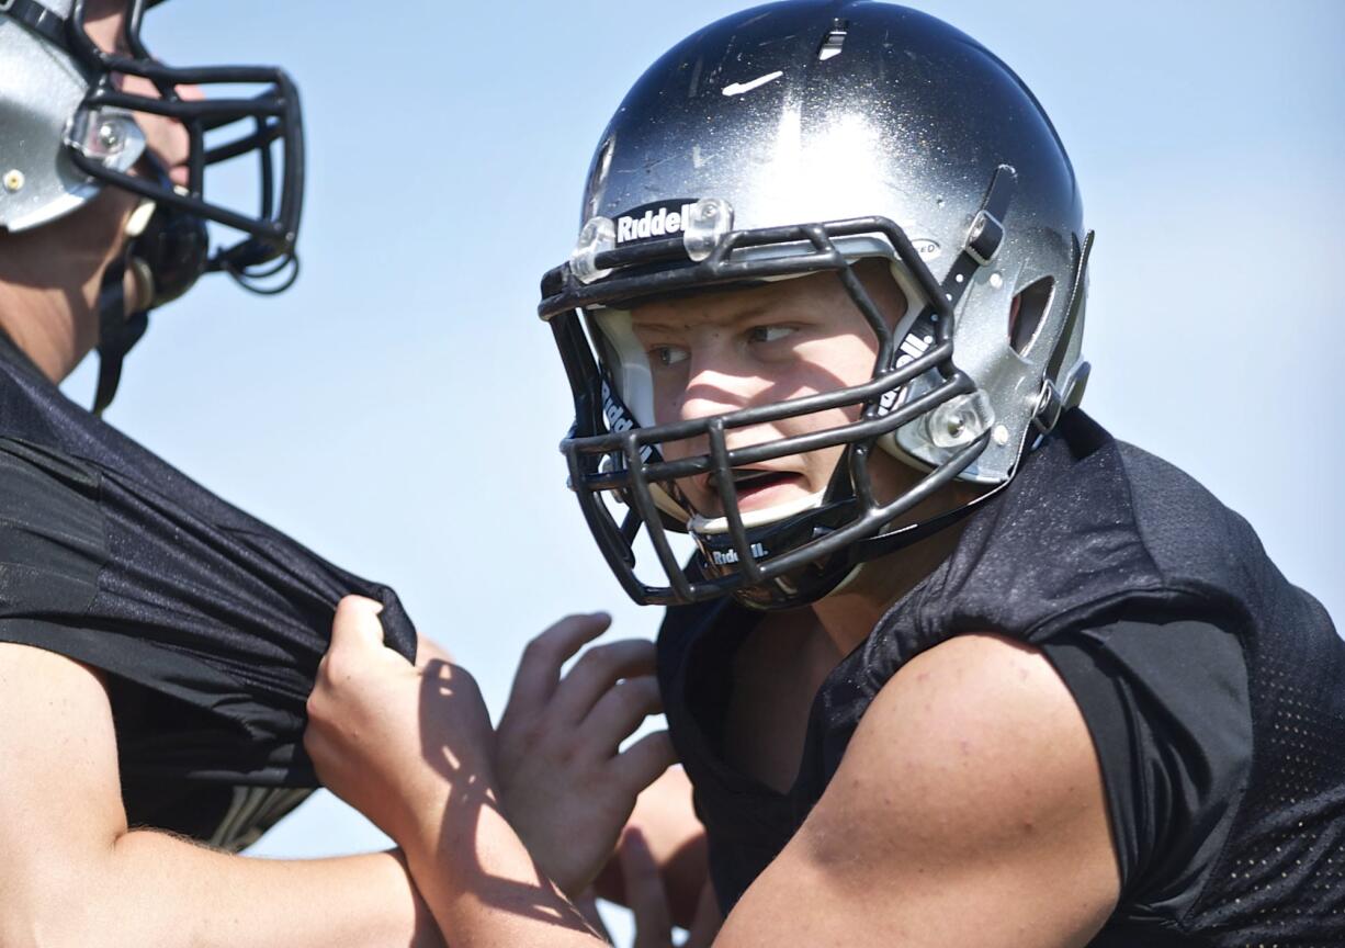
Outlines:
MULTIPOLYGON (((888 264, 870 260, 855 269, 894 325, 907 301, 888 264)), ((878 354, 873 329, 834 273, 648 303, 632 311, 632 325, 648 354, 660 425, 861 385, 872 378, 878 354)), ((850 406, 729 430, 728 446, 837 428, 857 421, 859 411, 850 406)), ((675 460, 702 455, 707 445, 695 438, 660 449, 675 460)), ((843 450, 788 455, 736 471, 738 508, 763 510, 824 491, 843 450)), ((877 455, 876 485, 892 493, 896 461, 877 455)), ((709 475, 682 479, 678 487, 702 516, 724 515, 709 475)))

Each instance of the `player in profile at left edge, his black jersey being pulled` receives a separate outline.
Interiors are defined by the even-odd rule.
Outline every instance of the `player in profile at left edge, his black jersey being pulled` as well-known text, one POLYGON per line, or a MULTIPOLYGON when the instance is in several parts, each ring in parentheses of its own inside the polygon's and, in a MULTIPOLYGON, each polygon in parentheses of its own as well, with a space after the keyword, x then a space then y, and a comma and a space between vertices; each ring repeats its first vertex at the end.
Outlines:
POLYGON ((203 273, 262 292, 295 273, 293 82, 163 63, 151 5, 0 0, 0 944, 441 944, 395 853, 234 855, 316 785, 304 699, 338 600, 381 601, 408 667, 434 648, 390 589, 56 387, 97 348, 101 411, 151 309, 203 273), (219 202, 230 161, 257 204, 219 202))

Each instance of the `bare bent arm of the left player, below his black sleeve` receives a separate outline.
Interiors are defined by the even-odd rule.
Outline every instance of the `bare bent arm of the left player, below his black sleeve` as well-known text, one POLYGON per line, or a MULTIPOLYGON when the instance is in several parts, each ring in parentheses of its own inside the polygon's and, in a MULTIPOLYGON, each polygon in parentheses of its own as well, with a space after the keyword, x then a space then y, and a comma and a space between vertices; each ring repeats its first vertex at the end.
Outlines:
POLYGON ((0 644, 0 945, 438 945, 401 858, 249 859, 129 830, 106 691, 0 644))

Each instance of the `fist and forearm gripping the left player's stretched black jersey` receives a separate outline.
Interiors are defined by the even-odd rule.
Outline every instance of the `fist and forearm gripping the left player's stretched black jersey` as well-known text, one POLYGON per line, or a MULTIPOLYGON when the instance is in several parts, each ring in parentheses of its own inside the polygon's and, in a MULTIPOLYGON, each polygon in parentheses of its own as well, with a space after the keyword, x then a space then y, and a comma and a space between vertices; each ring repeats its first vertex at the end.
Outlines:
POLYGON ((304 737, 323 783, 401 844, 453 948, 603 945, 504 819, 495 738, 467 671, 412 668, 374 604, 342 600, 304 737))

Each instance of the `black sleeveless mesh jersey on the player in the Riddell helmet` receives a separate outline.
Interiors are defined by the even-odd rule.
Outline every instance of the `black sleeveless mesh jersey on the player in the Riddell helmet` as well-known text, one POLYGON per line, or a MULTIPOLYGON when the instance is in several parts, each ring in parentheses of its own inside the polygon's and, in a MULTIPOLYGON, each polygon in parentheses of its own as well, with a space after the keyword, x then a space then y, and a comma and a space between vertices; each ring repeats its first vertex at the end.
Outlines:
POLYGON ((1091 943, 1345 945, 1345 643, 1247 523, 1080 411, 952 555, 830 672, 787 793, 724 754, 760 613, 671 609, 659 680, 728 912, 820 799, 912 656, 994 631, 1037 645, 1098 749, 1122 877, 1091 943))

